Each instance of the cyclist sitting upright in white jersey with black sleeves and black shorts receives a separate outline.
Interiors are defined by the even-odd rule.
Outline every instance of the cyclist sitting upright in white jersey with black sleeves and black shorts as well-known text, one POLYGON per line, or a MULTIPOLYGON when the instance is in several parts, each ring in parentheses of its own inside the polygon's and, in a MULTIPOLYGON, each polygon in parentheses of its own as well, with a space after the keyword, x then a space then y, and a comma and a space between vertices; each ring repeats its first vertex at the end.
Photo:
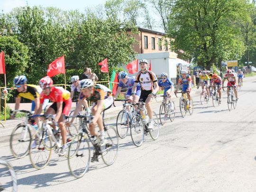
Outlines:
MULTIPOLYGON (((151 108, 151 102, 154 97, 156 97, 156 93, 159 90, 159 86, 157 83, 157 78, 155 73, 152 71, 149 71, 148 68, 148 61, 146 59, 141 59, 139 61, 139 65, 141 70, 137 73, 135 77, 135 83, 132 87, 132 96, 135 97, 135 90, 137 87, 137 84, 140 83, 141 87, 141 94, 139 97, 139 101, 145 102, 146 109, 147 109, 147 115, 148 115, 148 129, 153 129, 153 112, 151 108), (155 87, 155 89, 154 89, 155 87)), ((141 112, 141 115, 142 114, 141 112)))

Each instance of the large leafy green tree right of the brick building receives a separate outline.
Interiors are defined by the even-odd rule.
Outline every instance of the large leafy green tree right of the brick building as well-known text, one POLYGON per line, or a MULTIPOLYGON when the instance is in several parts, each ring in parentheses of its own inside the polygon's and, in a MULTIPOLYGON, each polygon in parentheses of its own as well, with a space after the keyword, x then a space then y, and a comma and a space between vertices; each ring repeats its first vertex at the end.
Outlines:
POLYGON ((234 21, 246 17, 244 0, 176 0, 169 33, 178 49, 210 69, 220 59, 239 59, 245 47, 234 21))

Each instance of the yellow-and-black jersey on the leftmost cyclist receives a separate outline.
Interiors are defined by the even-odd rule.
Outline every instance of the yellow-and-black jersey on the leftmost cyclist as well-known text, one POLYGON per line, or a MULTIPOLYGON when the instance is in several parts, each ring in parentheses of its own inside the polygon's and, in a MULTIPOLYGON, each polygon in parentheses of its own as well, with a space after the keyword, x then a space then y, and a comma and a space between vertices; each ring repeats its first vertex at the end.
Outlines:
POLYGON ((15 90, 14 97, 18 98, 26 98, 29 100, 35 100, 35 98, 40 97, 40 93, 42 92, 42 89, 33 84, 27 84, 27 91, 26 92, 18 92, 18 90, 15 90))

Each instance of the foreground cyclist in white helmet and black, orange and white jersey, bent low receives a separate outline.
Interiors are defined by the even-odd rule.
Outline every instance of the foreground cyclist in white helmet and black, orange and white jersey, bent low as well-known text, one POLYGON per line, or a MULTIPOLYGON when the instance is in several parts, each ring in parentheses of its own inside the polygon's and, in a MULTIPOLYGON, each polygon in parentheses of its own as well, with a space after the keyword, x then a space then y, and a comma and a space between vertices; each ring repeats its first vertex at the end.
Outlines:
MULTIPOLYGON (((92 102, 92 115, 94 116, 92 122, 89 124, 90 133, 92 141, 96 143, 97 137, 100 139, 100 145, 104 145, 106 143, 105 132, 103 120, 101 117, 101 112, 103 110, 109 109, 113 104, 113 96, 112 92, 109 88, 101 84, 94 84, 91 79, 83 79, 79 82, 79 87, 81 89, 80 97, 78 100, 77 107, 74 111, 74 115, 78 114, 78 109, 81 107, 84 99, 88 99, 92 102), (95 126, 98 125, 100 129, 100 135, 95 131, 95 126)), ((74 118, 72 118, 71 122, 67 122, 67 125, 72 123, 74 118)))

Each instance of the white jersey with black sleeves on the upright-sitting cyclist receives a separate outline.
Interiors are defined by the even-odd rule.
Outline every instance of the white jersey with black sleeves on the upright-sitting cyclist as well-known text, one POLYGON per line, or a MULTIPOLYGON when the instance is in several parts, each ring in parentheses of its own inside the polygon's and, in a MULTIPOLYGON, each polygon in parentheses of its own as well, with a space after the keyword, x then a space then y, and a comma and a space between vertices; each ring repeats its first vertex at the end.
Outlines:
POLYGON ((139 71, 135 77, 135 82, 140 83, 141 89, 146 91, 153 90, 153 84, 157 82, 157 77, 152 71, 146 70, 145 73, 139 71))

